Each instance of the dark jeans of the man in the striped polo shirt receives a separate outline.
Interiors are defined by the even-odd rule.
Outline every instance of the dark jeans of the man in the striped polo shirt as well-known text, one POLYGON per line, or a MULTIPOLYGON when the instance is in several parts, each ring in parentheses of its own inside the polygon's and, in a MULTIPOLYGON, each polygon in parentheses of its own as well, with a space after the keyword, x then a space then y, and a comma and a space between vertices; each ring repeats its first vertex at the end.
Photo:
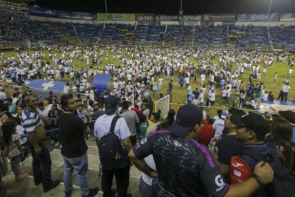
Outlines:
POLYGON ((34 177, 35 183, 42 181, 43 188, 47 188, 52 181, 50 153, 48 148, 45 145, 44 139, 38 141, 38 144, 42 150, 41 155, 36 155, 33 145, 28 143, 29 149, 32 152, 32 158, 33 158, 33 163, 32 163, 33 177, 34 177))

